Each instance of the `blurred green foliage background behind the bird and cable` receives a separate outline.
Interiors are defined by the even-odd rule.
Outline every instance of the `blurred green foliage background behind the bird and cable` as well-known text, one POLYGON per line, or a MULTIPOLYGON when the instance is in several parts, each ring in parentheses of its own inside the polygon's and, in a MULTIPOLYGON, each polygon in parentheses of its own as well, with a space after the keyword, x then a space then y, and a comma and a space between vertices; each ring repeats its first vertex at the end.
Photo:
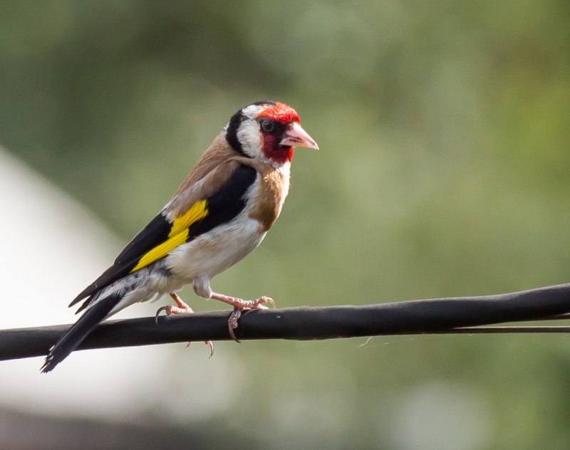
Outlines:
MULTIPOLYGON (((321 150, 297 150, 279 221, 214 290, 286 307, 564 283, 569 23, 546 0, 1 1, 0 143, 126 243, 238 108, 279 100, 321 150)), ((208 362, 179 347, 172 379, 199 390, 208 362)), ((173 419, 150 398, 139 423, 236 448, 570 441, 564 335, 218 348, 243 363, 222 412, 173 419)))

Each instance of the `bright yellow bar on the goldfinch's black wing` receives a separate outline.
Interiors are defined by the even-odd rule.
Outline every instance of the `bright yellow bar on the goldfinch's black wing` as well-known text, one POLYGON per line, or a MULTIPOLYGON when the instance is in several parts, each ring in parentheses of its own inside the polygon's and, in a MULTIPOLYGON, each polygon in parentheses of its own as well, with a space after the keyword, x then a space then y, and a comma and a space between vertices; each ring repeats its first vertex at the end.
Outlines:
POLYGON ((133 268, 131 273, 158 261, 180 244, 184 244, 190 231, 190 225, 200 219, 204 219, 207 215, 208 209, 206 207, 205 200, 199 200, 199 202, 190 206, 190 209, 188 209, 185 214, 174 219, 172 229, 170 229, 170 233, 168 234, 168 239, 142 255, 142 258, 140 258, 138 264, 133 268))

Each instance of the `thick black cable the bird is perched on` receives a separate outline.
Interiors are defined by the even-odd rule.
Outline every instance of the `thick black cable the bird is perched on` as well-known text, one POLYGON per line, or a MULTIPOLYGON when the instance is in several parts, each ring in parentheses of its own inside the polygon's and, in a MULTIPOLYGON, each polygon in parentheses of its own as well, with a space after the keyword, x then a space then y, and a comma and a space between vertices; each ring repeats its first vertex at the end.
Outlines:
MULTIPOLYGON (((570 313, 570 284, 479 297, 434 298, 361 306, 247 311, 240 340, 332 339, 422 333, 552 333, 554 328, 477 328, 525 320, 552 320, 570 313), (457 330, 457 328, 460 328, 457 330), (534 329, 534 330, 532 330, 534 329), (487 330, 487 331, 483 331, 487 330), (500 331, 499 331, 500 330, 500 331)), ((229 340, 229 311, 113 320, 93 330, 79 347, 106 348, 204 340, 229 340)), ((46 355, 69 325, 0 330, 0 360, 46 355)), ((570 329, 559 327, 556 332, 570 329)))

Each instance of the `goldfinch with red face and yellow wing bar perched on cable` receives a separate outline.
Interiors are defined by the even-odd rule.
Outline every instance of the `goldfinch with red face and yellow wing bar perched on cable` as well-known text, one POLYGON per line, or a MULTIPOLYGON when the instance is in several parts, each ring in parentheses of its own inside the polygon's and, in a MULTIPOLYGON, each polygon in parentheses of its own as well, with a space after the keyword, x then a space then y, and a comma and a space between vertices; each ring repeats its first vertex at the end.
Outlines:
POLYGON ((133 303, 169 294, 176 306, 157 315, 191 313, 176 294, 187 284, 199 297, 233 306, 228 328, 236 339, 242 310, 274 302, 214 293, 209 283, 253 251, 279 216, 293 147, 318 149, 289 105, 264 100, 236 112, 164 209, 71 302, 83 300, 78 312, 85 313, 51 347, 42 372, 76 350, 98 323, 133 303))

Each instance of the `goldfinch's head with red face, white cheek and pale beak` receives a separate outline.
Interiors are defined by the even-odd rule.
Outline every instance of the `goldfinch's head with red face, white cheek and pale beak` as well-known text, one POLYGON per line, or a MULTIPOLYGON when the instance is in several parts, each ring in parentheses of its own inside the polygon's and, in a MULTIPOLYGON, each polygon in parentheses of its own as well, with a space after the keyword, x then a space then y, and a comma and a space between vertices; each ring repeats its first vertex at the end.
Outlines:
POLYGON ((318 149, 299 125, 299 115, 289 105, 269 100, 252 103, 236 112, 226 128, 234 150, 274 165, 291 162, 293 147, 318 149))

